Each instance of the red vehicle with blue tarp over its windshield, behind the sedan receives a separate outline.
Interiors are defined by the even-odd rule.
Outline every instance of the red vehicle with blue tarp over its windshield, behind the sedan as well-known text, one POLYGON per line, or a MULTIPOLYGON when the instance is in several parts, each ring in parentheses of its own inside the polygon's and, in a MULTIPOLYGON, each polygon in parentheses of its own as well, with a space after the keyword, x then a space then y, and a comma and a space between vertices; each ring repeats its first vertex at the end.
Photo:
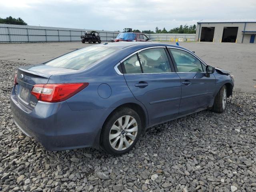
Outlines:
POLYGON ((122 41, 148 41, 152 42, 150 38, 148 38, 143 33, 133 33, 133 32, 122 32, 119 33, 115 39, 115 42, 122 42, 122 41))

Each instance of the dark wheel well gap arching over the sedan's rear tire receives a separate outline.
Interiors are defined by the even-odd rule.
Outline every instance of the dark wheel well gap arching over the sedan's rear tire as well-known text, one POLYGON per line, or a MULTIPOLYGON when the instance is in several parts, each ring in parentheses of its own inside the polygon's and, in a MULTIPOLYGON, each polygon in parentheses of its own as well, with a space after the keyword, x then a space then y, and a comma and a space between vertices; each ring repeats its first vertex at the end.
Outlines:
MULTIPOLYGON (((115 110, 113 110, 109 115, 108 118, 116 111, 119 110, 120 108, 131 108, 132 110, 136 111, 136 113, 138 113, 138 115, 140 116, 141 119, 141 123, 142 123, 142 132, 145 130, 146 127, 146 114, 143 110, 143 108, 135 103, 126 103, 126 104, 122 104, 120 106, 118 106, 115 110)), ((106 118, 105 122, 108 120, 108 118, 106 118)), ((104 124, 105 124, 104 122, 104 124)), ((103 126, 104 126, 103 124, 103 126)))

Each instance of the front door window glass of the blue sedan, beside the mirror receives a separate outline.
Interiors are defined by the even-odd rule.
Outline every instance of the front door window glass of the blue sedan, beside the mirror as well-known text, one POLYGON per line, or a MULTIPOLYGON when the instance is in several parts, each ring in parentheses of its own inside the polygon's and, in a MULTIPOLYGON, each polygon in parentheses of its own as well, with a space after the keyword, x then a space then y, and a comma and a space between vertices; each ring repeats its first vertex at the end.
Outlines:
POLYGON ((178 72, 203 72, 202 64, 198 58, 192 54, 179 50, 170 48, 174 60, 176 62, 178 72))

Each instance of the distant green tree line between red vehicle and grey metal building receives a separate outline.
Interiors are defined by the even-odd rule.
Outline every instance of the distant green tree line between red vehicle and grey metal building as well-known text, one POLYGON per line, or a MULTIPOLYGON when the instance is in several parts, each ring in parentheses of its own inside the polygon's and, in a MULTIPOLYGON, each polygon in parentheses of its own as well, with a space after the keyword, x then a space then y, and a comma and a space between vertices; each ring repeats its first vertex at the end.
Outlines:
POLYGON ((156 27, 155 31, 151 31, 151 30, 133 30, 132 32, 142 32, 142 33, 146 33, 146 34, 156 34, 156 33, 184 33, 184 34, 195 34, 196 33, 196 25, 180 25, 180 27, 176 27, 173 28, 169 31, 166 30, 166 28, 164 27, 162 30, 159 29, 158 27, 156 27))

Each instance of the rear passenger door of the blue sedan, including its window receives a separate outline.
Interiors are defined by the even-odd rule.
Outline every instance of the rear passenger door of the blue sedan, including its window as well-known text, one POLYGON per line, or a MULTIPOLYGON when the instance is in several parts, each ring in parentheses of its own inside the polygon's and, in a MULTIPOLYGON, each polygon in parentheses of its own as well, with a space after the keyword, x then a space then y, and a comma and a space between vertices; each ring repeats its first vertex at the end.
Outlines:
POLYGON ((175 118, 179 112, 180 77, 166 51, 162 46, 146 48, 121 62, 127 85, 146 107, 151 125, 175 118))

